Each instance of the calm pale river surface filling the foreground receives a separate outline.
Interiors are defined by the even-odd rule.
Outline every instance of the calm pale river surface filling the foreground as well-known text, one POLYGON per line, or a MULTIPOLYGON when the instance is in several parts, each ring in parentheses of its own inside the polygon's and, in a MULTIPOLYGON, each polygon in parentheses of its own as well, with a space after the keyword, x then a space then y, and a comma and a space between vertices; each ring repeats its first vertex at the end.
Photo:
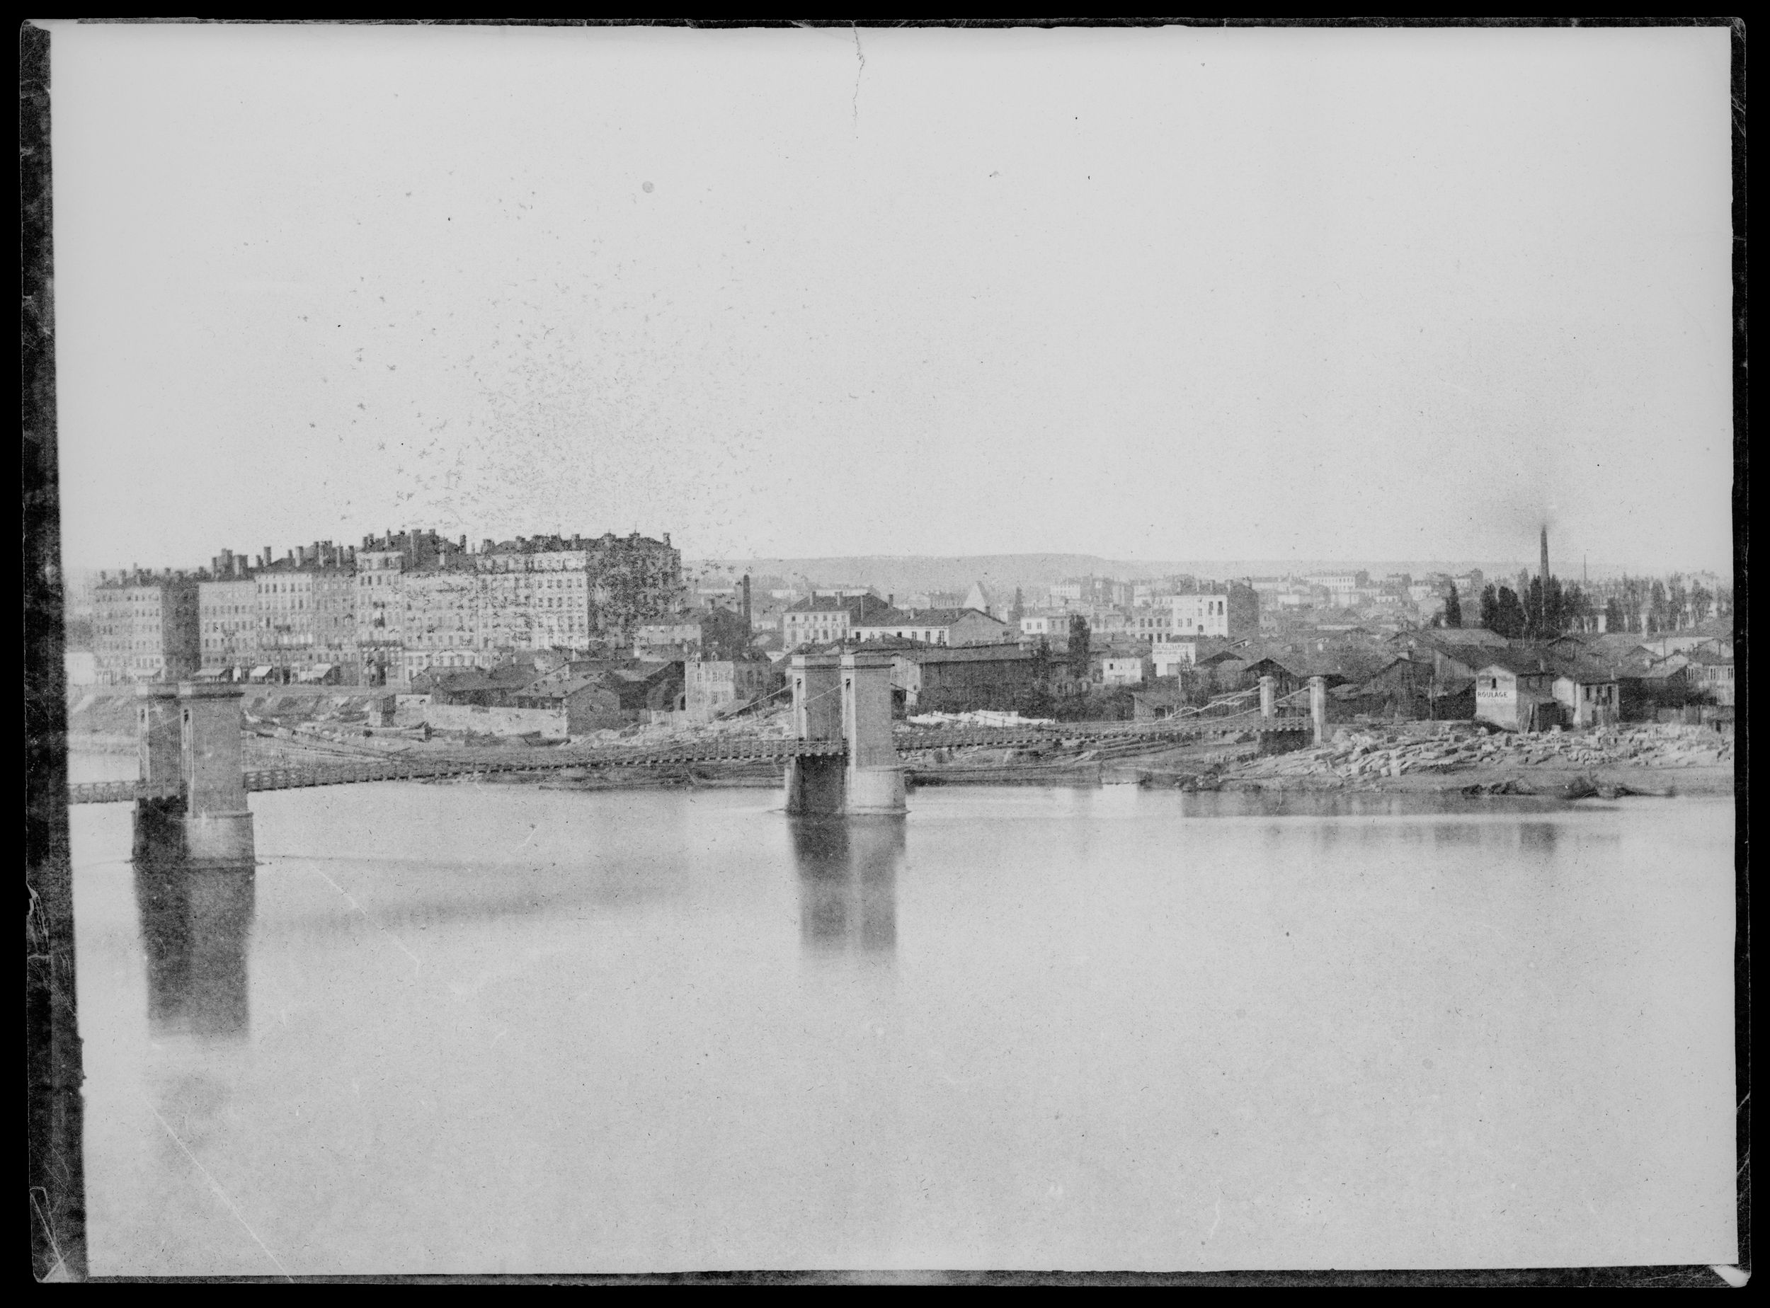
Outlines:
POLYGON ((775 804, 74 809, 92 1271, 1733 1260, 1729 804, 775 804))

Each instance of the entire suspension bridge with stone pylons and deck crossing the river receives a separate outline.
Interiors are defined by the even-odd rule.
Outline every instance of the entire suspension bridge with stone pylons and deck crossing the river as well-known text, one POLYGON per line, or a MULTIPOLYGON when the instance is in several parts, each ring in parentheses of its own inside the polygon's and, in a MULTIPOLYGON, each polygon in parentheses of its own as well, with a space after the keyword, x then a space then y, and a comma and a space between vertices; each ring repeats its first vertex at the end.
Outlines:
MULTIPOLYGON (((903 812, 903 756, 952 749, 1041 749, 1204 742, 1251 733, 1289 749, 1326 722, 1326 689, 1280 699, 1271 678, 1154 722, 1053 722, 1000 727, 904 729, 890 717, 890 655, 793 655, 793 735, 726 736, 657 749, 526 749, 497 759, 363 759, 313 766, 244 768, 241 690, 228 685, 147 685, 138 712, 140 777, 69 786, 71 804, 135 802, 147 827, 170 839, 182 828, 202 858, 251 858, 248 793, 379 781, 441 781, 591 768, 674 768, 696 763, 786 765, 786 807, 800 814, 903 812), (1253 697, 1258 696, 1258 704, 1253 697), (1306 708, 1304 701, 1306 699, 1306 708)), ((142 821, 138 821, 138 832, 142 821)), ((138 835, 140 841, 140 835, 138 835)))

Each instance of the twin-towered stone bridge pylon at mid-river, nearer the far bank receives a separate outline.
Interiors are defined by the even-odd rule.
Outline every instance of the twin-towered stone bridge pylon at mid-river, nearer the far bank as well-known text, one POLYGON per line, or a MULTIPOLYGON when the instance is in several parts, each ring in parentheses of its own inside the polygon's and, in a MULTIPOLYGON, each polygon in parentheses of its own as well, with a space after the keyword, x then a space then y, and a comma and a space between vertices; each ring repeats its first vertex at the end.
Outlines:
POLYGON ((892 743, 890 667, 892 657, 883 650, 791 657, 793 735, 841 742, 846 750, 788 759, 788 812, 904 812, 903 759, 892 743))

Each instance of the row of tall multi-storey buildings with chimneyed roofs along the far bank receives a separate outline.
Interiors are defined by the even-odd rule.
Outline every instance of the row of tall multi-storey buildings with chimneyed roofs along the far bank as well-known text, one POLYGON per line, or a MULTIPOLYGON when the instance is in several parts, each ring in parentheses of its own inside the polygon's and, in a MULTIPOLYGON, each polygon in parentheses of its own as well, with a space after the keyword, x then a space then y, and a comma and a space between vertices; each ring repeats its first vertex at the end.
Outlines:
POLYGON ((274 558, 221 550, 209 568, 99 573, 92 648, 101 683, 235 676, 398 685, 432 667, 490 667, 517 650, 628 642, 683 596, 662 540, 450 540, 388 531, 274 558))

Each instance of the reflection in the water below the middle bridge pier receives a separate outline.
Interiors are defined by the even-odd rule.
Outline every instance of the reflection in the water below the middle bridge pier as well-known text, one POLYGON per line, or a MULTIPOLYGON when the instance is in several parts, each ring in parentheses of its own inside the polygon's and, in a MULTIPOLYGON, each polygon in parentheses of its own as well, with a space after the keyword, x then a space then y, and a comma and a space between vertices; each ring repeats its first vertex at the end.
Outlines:
POLYGON ((903 823, 795 818, 791 825, 805 952, 889 961, 897 949, 903 823))

